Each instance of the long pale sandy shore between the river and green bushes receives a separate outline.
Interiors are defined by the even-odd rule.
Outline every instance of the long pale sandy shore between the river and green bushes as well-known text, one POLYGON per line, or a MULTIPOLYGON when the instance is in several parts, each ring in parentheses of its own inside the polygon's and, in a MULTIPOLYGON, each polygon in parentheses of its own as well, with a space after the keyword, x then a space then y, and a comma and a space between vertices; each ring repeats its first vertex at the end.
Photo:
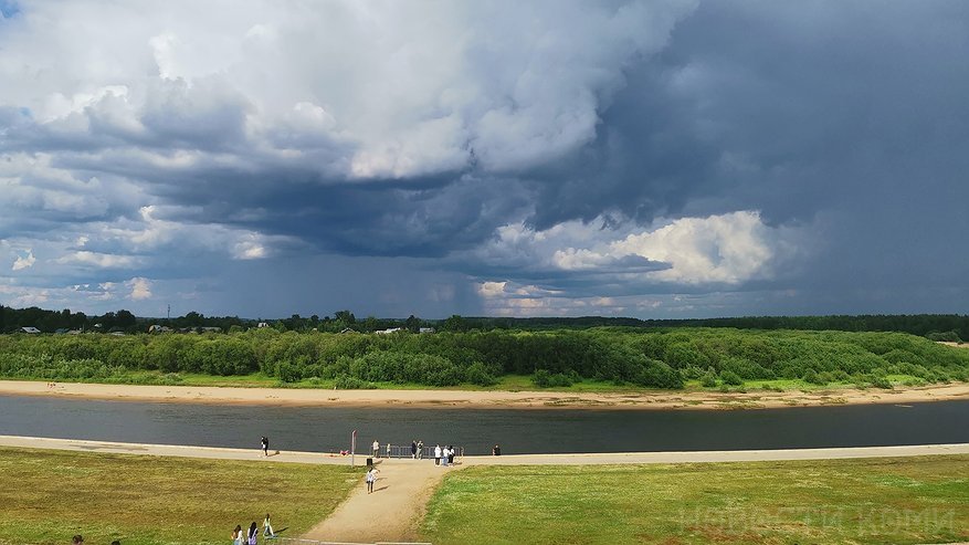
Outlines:
POLYGON ((747 394, 722 394, 654 390, 622 394, 571 394, 561 391, 222 388, 0 380, 0 395, 214 405, 468 407, 476 409, 767 409, 969 399, 969 384, 896 388, 894 390, 872 388, 810 392, 756 390, 747 394))

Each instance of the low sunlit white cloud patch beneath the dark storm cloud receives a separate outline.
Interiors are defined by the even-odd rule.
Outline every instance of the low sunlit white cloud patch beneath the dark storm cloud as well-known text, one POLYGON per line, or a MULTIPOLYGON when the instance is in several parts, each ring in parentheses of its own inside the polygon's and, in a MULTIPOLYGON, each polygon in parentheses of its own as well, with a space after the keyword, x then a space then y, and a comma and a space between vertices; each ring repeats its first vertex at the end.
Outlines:
POLYGON ((503 227, 475 254, 493 271, 493 277, 478 283, 478 295, 487 308, 512 315, 618 314, 682 306, 638 292, 644 285, 729 289, 771 280, 781 265, 810 252, 809 228, 770 227, 755 211, 660 221, 649 229, 622 222, 610 227, 615 224, 600 218, 545 231, 524 224, 503 227), (494 279, 501 274, 506 276, 494 279), (591 286, 573 285, 582 279, 592 279, 591 286))

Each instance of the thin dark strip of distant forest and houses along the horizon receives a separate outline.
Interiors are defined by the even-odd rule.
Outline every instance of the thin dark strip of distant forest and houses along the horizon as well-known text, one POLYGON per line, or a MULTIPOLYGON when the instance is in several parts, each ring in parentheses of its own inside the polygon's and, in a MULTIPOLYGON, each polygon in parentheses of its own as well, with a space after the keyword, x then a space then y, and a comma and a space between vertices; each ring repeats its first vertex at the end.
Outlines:
POLYGON ((45 311, 38 307, 12 308, 0 305, 0 333, 13 333, 21 327, 36 327, 44 333, 59 329, 101 331, 101 332, 146 332, 151 325, 161 325, 176 331, 219 327, 223 333, 256 327, 260 323, 287 332, 331 332, 352 329, 370 333, 394 327, 417 332, 420 327, 433 327, 442 332, 470 332, 493 329, 548 331, 588 329, 591 327, 624 326, 641 328, 657 327, 734 327, 738 329, 800 329, 840 332, 899 332, 928 336, 935 340, 969 340, 969 315, 959 314, 874 314, 839 316, 747 316, 735 318, 691 318, 691 319, 639 319, 628 317, 463 317, 459 315, 445 319, 377 318, 368 316, 358 319, 350 311, 338 311, 333 316, 301 316, 288 318, 240 318, 239 316, 204 316, 190 312, 173 318, 137 317, 120 310, 103 315, 87 316, 84 313, 45 311))

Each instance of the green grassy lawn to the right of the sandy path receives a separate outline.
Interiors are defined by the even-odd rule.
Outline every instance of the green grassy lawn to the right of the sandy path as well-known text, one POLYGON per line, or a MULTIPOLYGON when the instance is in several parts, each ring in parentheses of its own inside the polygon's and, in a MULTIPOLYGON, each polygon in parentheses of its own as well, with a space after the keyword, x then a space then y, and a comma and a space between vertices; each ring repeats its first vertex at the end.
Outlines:
POLYGON ((969 541, 969 455, 449 474, 423 537, 446 544, 969 541))

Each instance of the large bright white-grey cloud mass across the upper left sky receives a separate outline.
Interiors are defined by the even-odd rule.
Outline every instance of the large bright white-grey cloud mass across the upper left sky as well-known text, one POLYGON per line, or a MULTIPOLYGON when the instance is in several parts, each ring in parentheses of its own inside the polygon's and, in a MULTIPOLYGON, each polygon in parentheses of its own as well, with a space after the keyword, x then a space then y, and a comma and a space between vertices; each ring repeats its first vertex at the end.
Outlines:
POLYGON ((181 139, 351 178, 509 170, 592 139, 624 66, 693 3, 40 2, 3 22, 0 106, 113 149, 181 139))

